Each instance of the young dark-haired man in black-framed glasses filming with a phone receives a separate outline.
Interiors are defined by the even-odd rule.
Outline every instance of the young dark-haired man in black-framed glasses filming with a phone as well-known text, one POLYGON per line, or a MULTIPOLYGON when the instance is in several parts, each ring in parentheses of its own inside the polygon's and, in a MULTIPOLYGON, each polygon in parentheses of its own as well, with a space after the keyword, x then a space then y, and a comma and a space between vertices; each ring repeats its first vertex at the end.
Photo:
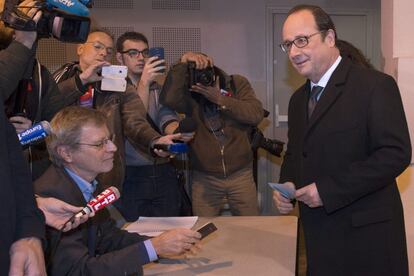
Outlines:
MULTIPOLYGON (((122 34, 116 48, 118 62, 128 68, 128 83, 136 88, 145 106, 148 123, 159 133, 172 134, 178 127, 178 116, 160 104, 161 85, 156 81, 165 71, 165 61, 150 57, 148 40, 138 32, 122 34)), ((128 141, 125 156, 124 193, 115 203, 123 217, 135 221, 140 216, 179 216, 181 189, 170 159, 136 150, 128 141)))

